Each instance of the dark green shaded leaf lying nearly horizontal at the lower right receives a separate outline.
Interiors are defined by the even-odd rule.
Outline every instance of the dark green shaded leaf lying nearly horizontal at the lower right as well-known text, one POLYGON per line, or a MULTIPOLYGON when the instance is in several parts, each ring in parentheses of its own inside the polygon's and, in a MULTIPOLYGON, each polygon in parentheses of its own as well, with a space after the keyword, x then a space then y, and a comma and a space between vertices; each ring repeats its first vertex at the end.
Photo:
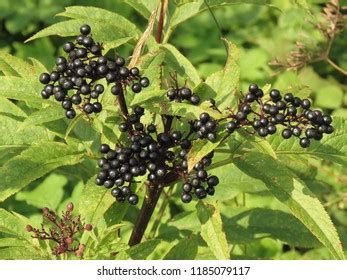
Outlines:
POLYGON ((291 246, 313 248, 320 242, 294 216, 279 210, 264 208, 230 209, 223 224, 232 244, 247 244, 271 237, 291 246))

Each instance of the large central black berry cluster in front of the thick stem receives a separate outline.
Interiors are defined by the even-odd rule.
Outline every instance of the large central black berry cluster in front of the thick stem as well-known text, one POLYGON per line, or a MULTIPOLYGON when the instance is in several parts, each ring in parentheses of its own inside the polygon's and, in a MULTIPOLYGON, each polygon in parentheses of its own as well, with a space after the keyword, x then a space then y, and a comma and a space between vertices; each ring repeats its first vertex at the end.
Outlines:
POLYGON ((131 182, 148 171, 148 180, 159 183, 170 170, 167 163, 175 157, 170 149, 181 139, 179 131, 157 134, 155 125, 149 124, 145 128, 140 121, 143 113, 142 107, 135 107, 134 113, 119 125, 120 131, 130 136, 127 147, 112 150, 109 145, 101 145, 100 152, 105 156, 99 160, 101 170, 96 178, 97 185, 115 186, 111 193, 117 201, 123 202, 127 198, 133 205, 137 204, 138 196, 131 191, 131 182))

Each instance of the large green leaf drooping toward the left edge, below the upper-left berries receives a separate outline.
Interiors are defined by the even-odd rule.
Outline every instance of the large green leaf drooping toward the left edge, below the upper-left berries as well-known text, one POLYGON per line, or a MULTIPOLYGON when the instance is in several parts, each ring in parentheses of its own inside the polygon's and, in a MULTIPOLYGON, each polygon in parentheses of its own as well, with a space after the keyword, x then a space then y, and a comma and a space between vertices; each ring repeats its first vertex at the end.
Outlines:
POLYGON ((30 146, 0 168, 0 201, 48 172, 60 166, 77 164, 82 159, 83 152, 63 143, 43 142, 30 146))

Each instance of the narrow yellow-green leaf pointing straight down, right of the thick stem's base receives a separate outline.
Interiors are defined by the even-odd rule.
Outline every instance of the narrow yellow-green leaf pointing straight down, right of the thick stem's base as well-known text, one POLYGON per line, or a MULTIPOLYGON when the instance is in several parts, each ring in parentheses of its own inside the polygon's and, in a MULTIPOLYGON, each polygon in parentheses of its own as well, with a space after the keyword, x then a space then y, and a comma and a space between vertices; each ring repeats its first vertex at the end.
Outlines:
POLYGON ((201 224, 201 237, 205 240, 216 259, 229 259, 228 242, 217 205, 199 202, 196 205, 196 210, 201 224))

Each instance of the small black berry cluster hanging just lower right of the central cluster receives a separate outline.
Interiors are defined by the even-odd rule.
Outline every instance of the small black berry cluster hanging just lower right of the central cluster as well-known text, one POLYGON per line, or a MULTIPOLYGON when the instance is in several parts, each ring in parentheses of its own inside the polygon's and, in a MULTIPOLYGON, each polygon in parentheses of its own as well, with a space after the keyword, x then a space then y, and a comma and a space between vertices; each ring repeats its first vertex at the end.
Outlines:
POLYGON ((211 165, 213 152, 202 158, 197 164, 195 164, 193 171, 187 174, 187 154, 189 150, 182 149, 179 156, 182 159, 181 167, 185 173, 185 183, 182 185, 181 200, 184 203, 189 203, 193 199, 193 194, 198 199, 203 199, 207 195, 214 195, 215 186, 219 184, 217 176, 209 176, 206 167, 211 165), (204 187, 207 184, 207 187, 204 187))

